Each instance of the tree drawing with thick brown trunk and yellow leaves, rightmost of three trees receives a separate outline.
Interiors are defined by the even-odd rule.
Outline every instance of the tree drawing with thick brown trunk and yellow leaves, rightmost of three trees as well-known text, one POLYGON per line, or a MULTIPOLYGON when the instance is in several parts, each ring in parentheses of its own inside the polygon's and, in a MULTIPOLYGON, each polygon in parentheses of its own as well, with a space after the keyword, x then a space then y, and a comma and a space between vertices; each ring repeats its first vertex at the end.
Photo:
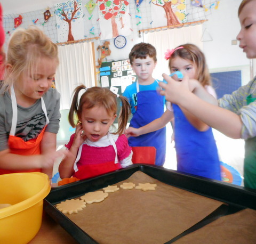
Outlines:
POLYGON ((152 0, 152 26, 175 26, 187 22, 186 0, 152 0), (157 13, 157 14, 156 14, 157 13), (159 18, 165 16, 165 18, 159 18))

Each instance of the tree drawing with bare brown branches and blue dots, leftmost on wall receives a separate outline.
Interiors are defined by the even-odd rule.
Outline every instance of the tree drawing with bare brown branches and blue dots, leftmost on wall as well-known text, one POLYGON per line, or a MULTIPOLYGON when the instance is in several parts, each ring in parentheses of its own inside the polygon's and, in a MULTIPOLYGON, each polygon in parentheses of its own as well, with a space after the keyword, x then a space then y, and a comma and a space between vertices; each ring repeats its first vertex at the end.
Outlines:
POLYGON ((82 15, 82 8, 78 6, 78 3, 81 4, 79 0, 74 0, 55 5, 57 17, 68 24, 68 42, 74 40, 71 23, 82 15))

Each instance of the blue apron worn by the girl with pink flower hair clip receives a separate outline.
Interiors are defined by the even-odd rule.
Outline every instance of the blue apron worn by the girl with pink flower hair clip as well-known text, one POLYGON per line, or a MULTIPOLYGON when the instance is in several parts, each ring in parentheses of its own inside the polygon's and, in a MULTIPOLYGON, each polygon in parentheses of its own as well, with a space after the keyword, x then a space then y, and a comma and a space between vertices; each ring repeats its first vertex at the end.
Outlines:
POLYGON ((221 168, 212 128, 198 131, 177 104, 173 104, 177 169, 181 172, 221 180, 221 168))

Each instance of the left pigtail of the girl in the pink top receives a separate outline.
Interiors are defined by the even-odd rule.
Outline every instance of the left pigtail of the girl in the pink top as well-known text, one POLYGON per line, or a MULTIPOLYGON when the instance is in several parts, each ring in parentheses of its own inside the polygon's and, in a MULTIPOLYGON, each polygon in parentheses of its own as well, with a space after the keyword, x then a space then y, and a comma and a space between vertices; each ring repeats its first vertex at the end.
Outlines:
POLYGON ((78 117, 79 119, 81 116, 81 111, 79 110, 78 94, 83 89, 86 89, 84 85, 77 86, 73 92, 73 100, 71 102, 71 107, 68 113, 68 121, 73 128, 75 128, 77 125, 77 120, 75 118, 78 117))

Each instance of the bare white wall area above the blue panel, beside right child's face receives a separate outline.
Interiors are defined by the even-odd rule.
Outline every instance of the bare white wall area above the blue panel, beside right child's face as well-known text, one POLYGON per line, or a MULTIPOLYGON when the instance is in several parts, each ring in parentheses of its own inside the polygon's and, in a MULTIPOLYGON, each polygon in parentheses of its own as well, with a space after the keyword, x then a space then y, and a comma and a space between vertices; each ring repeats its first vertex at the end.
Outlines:
POLYGON ((237 17, 238 6, 241 0, 220 1, 218 10, 212 11, 209 21, 203 24, 203 31, 212 37, 212 41, 204 42, 203 49, 209 68, 244 66, 249 64, 246 55, 237 45, 231 45, 240 30, 237 17))

